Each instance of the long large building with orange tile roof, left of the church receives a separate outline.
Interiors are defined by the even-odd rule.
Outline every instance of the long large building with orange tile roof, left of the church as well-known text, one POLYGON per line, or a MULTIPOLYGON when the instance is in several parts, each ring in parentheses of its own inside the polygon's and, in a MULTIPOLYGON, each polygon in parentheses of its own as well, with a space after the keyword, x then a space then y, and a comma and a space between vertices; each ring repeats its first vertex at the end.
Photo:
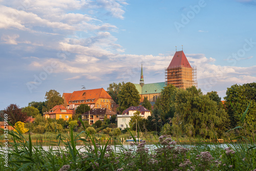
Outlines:
POLYGON ((76 110, 80 104, 87 104, 91 109, 106 108, 116 112, 115 101, 103 88, 63 93, 62 98, 67 109, 76 110))

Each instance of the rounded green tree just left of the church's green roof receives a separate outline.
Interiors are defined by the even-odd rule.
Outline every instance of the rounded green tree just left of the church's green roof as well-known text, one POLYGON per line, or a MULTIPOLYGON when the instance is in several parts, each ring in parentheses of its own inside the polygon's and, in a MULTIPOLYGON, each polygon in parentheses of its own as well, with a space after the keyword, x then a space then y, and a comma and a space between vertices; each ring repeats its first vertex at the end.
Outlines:
POLYGON ((118 111, 122 112, 130 106, 138 106, 140 103, 140 95, 136 87, 131 82, 126 82, 120 92, 118 97, 118 111))

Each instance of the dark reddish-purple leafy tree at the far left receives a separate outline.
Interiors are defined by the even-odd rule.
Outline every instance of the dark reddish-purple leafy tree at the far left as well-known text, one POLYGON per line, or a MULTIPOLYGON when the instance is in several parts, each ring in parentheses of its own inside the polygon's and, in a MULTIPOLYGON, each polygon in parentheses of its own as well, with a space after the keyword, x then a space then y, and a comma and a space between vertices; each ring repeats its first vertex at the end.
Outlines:
POLYGON ((25 122, 28 119, 28 115, 22 112, 22 109, 16 104, 8 105, 4 113, 8 114, 8 121, 13 125, 18 121, 25 122))

